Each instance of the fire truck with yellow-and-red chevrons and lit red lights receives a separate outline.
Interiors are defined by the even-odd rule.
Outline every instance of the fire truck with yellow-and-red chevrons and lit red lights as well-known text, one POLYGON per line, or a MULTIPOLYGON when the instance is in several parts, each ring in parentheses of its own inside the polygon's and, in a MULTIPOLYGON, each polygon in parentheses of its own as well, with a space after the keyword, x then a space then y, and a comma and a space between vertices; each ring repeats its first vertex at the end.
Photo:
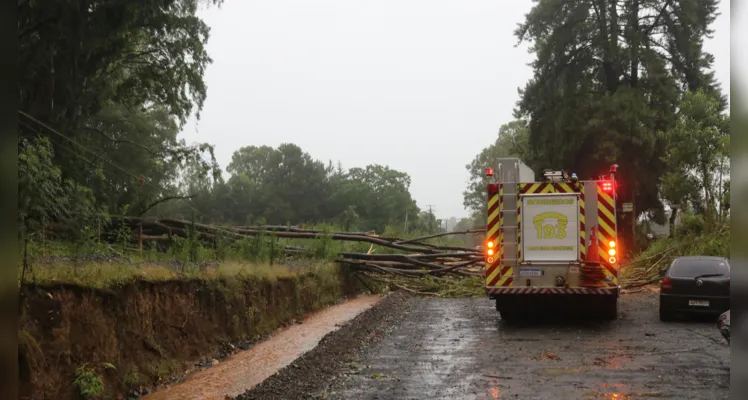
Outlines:
POLYGON ((617 165, 593 180, 543 171, 517 158, 486 169, 486 295, 501 318, 540 309, 618 315, 617 165))

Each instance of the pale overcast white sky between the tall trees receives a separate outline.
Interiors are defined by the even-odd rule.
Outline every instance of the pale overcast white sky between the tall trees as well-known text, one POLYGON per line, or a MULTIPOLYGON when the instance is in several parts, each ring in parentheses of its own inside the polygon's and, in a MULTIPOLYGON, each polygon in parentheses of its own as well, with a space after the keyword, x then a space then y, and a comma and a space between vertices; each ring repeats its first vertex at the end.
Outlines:
MULTIPOLYGON (((410 174, 421 208, 467 216, 465 164, 512 119, 532 71, 512 32, 530 0, 225 0, 211 27, 208 98, 181 137, 226 167, 241 146, 295 143, 345 168, 410 174)), ((730 85, 730 2, 715 37, 730 85)))

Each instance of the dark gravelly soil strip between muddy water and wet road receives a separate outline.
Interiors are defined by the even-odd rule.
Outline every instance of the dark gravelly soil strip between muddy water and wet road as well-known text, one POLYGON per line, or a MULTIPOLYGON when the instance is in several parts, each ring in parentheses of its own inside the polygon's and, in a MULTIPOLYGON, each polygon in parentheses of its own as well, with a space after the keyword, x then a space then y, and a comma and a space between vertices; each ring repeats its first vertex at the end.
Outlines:
POLYGON ((407 315, 406 308, 415 304, 408 299, 403 293, 386 296, 236 400, 324 398, 330 383, 353 364, 358 351, 376 343, 402 321, 407 315))

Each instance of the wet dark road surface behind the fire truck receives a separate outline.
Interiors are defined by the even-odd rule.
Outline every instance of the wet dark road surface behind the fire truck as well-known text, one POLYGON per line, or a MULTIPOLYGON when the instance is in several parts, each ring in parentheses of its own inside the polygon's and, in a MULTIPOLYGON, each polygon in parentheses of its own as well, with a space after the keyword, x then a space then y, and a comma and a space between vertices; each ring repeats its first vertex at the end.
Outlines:
POLYGON ((508 324, 488 299, 411 298, 330 399, 728 399, 730 349, 712 321, 662 323, 657 295, 616 321, 508 324))

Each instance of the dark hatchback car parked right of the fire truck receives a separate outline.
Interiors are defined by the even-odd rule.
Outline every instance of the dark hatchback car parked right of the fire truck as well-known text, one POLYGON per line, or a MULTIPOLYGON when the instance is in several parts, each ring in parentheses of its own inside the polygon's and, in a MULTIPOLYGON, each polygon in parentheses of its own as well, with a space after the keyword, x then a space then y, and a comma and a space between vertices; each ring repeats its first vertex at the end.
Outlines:
POLYGON ((678 257, 660 282, 660 320, 678 313, 719 315, 730 309, 730 262, 723 257, 678 257))

